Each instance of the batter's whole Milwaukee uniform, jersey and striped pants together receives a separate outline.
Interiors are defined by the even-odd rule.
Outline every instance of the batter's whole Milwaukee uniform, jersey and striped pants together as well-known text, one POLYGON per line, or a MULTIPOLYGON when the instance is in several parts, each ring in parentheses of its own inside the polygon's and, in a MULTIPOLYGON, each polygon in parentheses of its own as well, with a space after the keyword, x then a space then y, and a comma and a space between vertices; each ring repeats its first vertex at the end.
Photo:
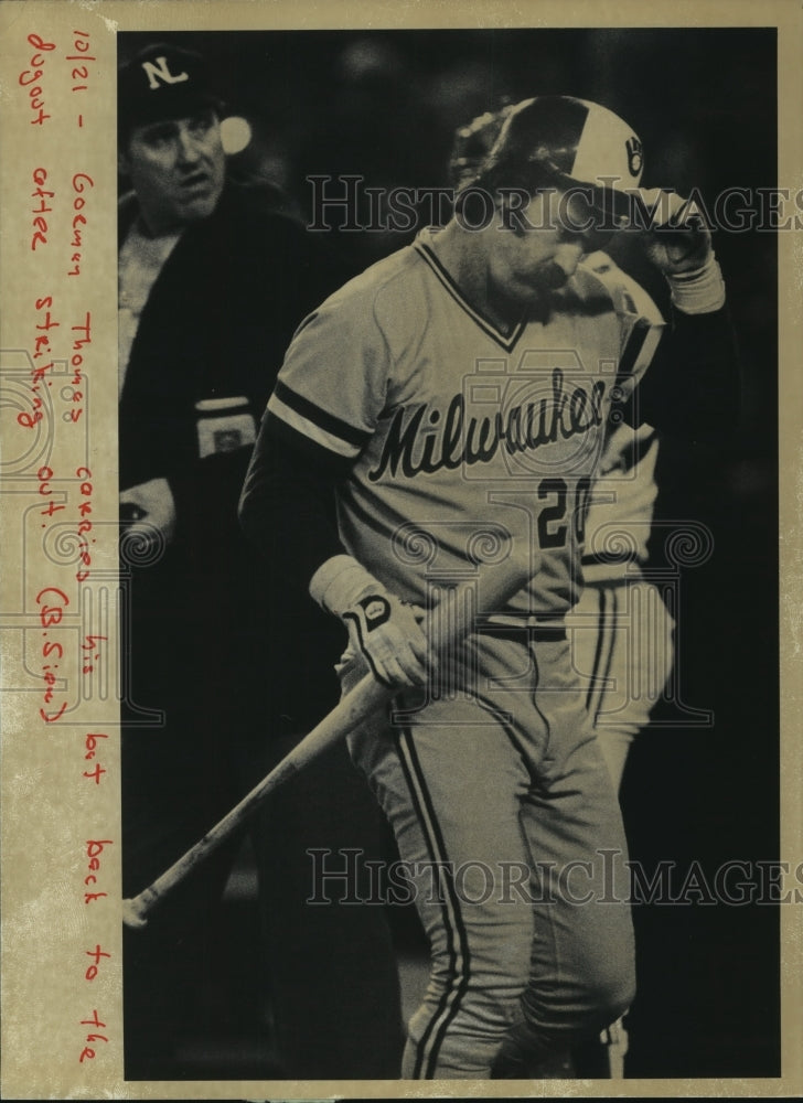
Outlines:
MULTIPOLYGON (((427 232, 310 315, 270 399, 272 418, 352 461, 341 539, 388 590, 424 604, 479 577, 480 630, 435 688, 351 739, 432 950, 407 1077, 485 1077, 522 1015, 547 1051, 632 998, 621 817, 563 618, 612 401, 656 342, 627 289, 582 266, 548 312, 501 332, 427 232), (484 609, 478 567, 522 549, 531 583, 484 609)), ((361 674, 346 654, 344 687, 361 674)))

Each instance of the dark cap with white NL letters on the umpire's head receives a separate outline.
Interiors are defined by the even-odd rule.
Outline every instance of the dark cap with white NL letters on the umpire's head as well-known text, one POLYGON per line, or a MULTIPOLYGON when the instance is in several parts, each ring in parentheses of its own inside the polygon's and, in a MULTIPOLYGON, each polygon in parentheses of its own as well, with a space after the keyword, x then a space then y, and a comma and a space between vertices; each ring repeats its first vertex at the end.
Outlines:
POLYGON ((223 106, 201 54, 164 43, 147 46, 120 68, 117 105, 120 143, 135 127, 223 106))

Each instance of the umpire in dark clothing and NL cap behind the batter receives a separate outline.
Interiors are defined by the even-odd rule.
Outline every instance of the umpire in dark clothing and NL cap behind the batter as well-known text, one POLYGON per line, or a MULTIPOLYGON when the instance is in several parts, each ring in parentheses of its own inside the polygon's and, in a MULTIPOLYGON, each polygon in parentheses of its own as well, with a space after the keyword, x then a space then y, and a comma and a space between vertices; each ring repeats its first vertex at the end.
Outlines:
MULTIPOLYGON (((278 570, 265 585, 237 500, 292 331, 345 275, 269 194, 231 179, 221 109, 193 52, 157 44, 121 68, 119 159, 132 189, 119 216, 126 895, 208 831, 338 694, 323 615, 299 608, 278 570)), ((345 748, 255 823, 282 1074, 397 1067, 398 978, 382 913, 306 904, 307 849, 372 853, 379 827, 345 748)), ((207 1030, 223 1020, 208 988, 235 850, 211 860, 147 932, 126 932, 129 1079, 176 1075, 182 1047, 205 1025, 200 1009, 212 1005, 207 1030)))

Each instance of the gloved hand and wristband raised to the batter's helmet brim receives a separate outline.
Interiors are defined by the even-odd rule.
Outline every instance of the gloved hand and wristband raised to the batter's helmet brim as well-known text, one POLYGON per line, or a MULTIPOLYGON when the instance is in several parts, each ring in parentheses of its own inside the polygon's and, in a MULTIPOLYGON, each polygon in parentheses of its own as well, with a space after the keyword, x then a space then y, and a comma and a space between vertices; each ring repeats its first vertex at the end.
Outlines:
POLYGON ((694 203, 674 192, 641 190, 661 223, 644 235, 650 260, 666 276, 672 301, 686 314, 704 314, 725 304, 725 282, 711 248, 710 231, 694 203))

